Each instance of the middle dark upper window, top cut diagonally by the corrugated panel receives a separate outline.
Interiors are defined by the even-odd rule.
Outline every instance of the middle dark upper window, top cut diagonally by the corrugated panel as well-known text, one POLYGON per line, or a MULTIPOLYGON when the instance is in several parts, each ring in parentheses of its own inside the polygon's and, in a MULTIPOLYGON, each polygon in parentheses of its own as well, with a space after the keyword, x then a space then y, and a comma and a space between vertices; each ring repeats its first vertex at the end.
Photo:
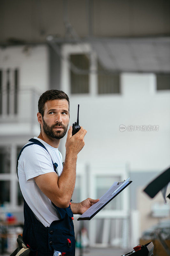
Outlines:
POLYGON ((109 73, 98 61, 98 93, 120 93, 120 74, 109 73))

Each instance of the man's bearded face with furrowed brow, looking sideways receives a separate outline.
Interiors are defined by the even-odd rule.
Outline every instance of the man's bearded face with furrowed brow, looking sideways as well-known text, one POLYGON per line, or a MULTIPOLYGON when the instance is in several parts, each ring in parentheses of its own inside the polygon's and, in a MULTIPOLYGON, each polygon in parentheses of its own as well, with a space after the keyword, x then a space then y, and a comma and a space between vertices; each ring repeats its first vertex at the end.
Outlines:
MULTIPOLYGON (((62 139, 69 125, 67 100, 49 100, 44 105, 43 130, 51 138, 62 139)), ((41 126, 42 127, 42 126, 41 126)))

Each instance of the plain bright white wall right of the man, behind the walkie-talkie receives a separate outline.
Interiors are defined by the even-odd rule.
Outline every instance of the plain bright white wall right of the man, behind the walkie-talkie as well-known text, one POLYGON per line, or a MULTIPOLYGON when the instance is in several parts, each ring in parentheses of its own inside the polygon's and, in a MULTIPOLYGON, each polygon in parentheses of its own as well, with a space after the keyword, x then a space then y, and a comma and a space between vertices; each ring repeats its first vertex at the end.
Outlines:
MULTIPOLYGON (((87 130, 78 162, 129 163, 131 171, 169 165, 170 92, 157 92, 154 74, 122 74, 121 95, 70 96, 70 125, 87 130), (120 132, 120 124, 159 125, 158 131, 120 132)), ((64 152, 64 141, 62 144, 64 152)))

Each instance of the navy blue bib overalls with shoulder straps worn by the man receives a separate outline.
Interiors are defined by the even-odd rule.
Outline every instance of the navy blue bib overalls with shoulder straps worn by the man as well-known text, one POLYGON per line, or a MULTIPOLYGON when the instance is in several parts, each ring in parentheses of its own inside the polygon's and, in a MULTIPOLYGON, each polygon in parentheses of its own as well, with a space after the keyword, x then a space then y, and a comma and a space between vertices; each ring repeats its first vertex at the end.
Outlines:
MULTIPOLYGON (((39 140, 30 139, 29 141, 32 143, 25 145, 17 158, 17 175, 18 159, 24 148, 37 144, 47 150, 39 140)), ((53 167, 56 172, 56 164, 53 163, 53 167)), ((60 220, 54 220, 49 227, 45 227, 37 220, 24 199, 24 229, 22 236, 25 244, 31 248, 30 256, 53 256, 55 251, 61 252, 65 256, 75 256, 73 213, 70 205, 68 208, 59 208, 55 204, 53 205, 60 216, 60 220)), ((57 253, 54 255, 57 255, 57 253)))

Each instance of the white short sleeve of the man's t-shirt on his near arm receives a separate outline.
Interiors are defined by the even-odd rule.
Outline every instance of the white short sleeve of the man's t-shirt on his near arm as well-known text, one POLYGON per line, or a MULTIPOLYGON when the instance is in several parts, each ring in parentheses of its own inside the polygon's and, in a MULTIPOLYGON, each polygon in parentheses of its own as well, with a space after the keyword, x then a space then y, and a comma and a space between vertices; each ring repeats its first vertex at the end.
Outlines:
POLYGON ((22 154, 20 164, 25 171, 26 181, 41 174, 55 172, 51 157, 44 148, 31 145, 26 147, 22 154))

